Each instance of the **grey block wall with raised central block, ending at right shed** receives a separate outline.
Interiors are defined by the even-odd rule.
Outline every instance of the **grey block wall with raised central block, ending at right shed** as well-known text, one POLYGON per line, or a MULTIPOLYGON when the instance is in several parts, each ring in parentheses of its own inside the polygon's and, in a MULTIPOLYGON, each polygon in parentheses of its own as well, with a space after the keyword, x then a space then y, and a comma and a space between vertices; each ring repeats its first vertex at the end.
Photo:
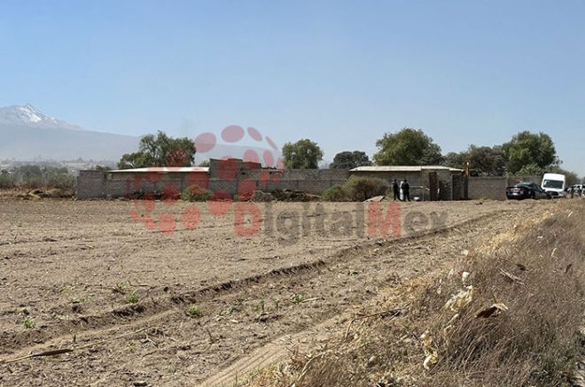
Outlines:
MULTIPOLYGON (((230 195, 238 194, 240 182, 251 181, 248 189, 255 190, 300 190, 320 194, 333 185, 343 184, 350 175, 377 177, 388 185, 393 179, 409 180, 412 196, 428 197, 428 191, 417 186, 428 186, 428 171, 421 172, 358 172, 350 173, 343 169, 292 169, 286 171, 262 170, 258 163, 244 162, 241 159, 229 161, 212 159, 208 174, 171 172, 157 173, 103 173, 99 171, 82 171, 78 178, 79 198, 90 197, 126 197, 135 192, 163 192, 171 187, 175 192, 182 192, 193 183, 206 186, 214 192, 224 191, 230 195)), ((441 198, 450 199, 450 175, 448 171, 439 171, 438 178, 443 184, 441 198), (444 175, 443 175, 444 174, 444 175)))

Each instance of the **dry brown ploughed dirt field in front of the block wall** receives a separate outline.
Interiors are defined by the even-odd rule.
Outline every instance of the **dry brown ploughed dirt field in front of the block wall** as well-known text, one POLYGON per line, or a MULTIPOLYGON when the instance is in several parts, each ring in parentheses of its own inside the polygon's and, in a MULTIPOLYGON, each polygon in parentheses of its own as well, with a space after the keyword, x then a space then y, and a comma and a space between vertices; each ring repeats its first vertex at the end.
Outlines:
MULTIPOLYGON (((0 385, 234 385, 282 356, 275 343, 318 340, 380 289, 557 204, 407 203, 400 236, 371 238, 367 206, 316 205, 260 205, 269 229, 238 236, 231 207, 198 205, 196 228, 166 233, 131 201, 1 198, 0 385)), ((188 206, 151 213, 180 223, 188 206)))

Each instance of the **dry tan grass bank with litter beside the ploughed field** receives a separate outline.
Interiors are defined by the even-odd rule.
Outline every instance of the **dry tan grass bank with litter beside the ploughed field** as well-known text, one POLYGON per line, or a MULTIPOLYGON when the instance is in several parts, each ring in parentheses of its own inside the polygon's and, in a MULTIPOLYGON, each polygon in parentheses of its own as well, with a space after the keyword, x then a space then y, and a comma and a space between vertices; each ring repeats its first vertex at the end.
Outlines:
POLYGON ((327 348, 263 370, 249 385, 570 385, 585 312, 584 216, 581 201, 567 201, 514 226, 449 275, 393 290, 379 307, 401 315, 356 320, 347 337, 340 327, 327 348), (445 307, 470 285, 467 305, 445 307), (494 304, 505 308, 477 316, 494 304), (425 368, 429 354, 437 361, 425 368))

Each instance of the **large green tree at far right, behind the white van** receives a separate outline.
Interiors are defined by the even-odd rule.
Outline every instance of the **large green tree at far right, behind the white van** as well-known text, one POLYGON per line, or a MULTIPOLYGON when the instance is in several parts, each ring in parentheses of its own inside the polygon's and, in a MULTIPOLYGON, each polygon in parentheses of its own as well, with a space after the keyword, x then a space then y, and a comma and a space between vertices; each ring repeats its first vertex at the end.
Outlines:
POLYGON ((557 151, 550 135, 529 131, 519 132, 511 141, 502 144, 506 158, 506 171, 517 174, 531 164, 540 168, 547 168, 558 164, 557 151))

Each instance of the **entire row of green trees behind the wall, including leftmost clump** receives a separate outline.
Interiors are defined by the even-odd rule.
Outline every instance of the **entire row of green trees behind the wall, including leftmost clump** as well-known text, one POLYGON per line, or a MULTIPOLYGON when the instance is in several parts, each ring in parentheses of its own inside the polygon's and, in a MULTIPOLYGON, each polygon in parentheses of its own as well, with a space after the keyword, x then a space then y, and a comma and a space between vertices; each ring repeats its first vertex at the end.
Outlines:
MULTIPOLYGON (((423 166, 441 165, 461 169, 469 167, 476 175, 538 175, 545 171, 563 173, 577 182, 578 176, 560 167, 555 145, 545 133, 519 132, 507 143, 495 146, 470 145, 467 150, 441 153, 441 147, 420 129, 402 128, 386 133, 376 142, 378 151, 370 160, 364 151, 342 151, 335 155, 330 168, 351 169, 356 166, 423 166)), ((195 145, 187 138, 172 138, 164 132, 144 135, 138 151, 122 156, 118 167, 191 166, 195 145)), ((287 169, 316 169, 324 151, 307 138, 285 143, 283 159, 287 169)))

